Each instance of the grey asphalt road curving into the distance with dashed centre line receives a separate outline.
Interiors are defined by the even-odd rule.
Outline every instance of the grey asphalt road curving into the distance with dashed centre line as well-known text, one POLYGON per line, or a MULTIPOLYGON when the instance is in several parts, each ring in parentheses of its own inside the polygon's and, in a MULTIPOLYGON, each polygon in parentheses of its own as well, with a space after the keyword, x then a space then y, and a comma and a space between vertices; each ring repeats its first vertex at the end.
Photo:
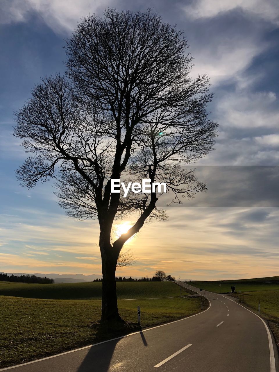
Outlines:
POLYGON ((0 371, 275 372, 263 321, 228 296, 205 295, 209 309, 184 320, 0 371))

